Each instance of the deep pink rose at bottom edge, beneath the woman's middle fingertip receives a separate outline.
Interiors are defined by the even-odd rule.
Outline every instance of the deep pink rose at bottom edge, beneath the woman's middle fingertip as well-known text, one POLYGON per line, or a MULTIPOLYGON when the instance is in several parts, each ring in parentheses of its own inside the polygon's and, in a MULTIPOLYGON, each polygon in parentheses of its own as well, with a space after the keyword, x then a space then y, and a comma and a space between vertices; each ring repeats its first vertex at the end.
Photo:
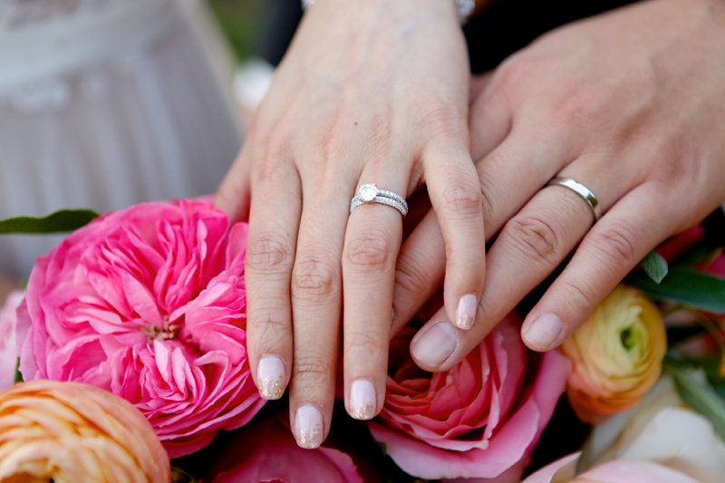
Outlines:
MULTIPOLYGON (((286 411, 237 431, 210 471, 213 483, 362 483, 350 455, 330 447, 302 449, 286 426, 286 411)), ((367 481, 374 480, 369 477, 367 481)))

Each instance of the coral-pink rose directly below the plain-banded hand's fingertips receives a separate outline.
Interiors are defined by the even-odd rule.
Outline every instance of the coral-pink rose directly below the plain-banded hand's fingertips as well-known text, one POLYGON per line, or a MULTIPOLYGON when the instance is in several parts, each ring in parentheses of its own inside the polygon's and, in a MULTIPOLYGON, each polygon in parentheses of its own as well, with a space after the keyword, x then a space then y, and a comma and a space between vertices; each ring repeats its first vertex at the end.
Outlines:
POLYGON ((408 355, 410 339, 393 340, 385 405, 368 427, 401 469, 427 479, 520 479, 571 365, 556 351, 528 353, 519 330, 509 314, 459 365, 433 374, 408 355))

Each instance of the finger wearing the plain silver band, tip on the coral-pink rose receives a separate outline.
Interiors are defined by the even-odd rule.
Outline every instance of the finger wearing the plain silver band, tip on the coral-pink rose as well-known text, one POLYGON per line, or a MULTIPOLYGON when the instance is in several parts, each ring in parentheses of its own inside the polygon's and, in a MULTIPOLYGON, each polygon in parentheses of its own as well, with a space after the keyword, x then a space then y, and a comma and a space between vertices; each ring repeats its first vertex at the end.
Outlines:
MULTIPOLYGON (((572 166, 576 164, 588 163, 579 159, 572 166)), ((584 174, 580 176, 584 178, 584 174)), ((628 188, 620 183, 604 183, 594 189, 599 191, 598 199, 608 200, 619 198, 628 188)), ((593 220, 591 207, 574 191, 558 186, 541 189, 507 222, 488 251, 488 273, 476 324, 468 333, 458 333, 446 326, 448 321, 442 314, 433 317, 411 345, 420 367, 446 370, 458 363, 556 269, 585 236, 593 220), (431 344, 434 338, 444 337, 444 329, 449 342, 431 344)))

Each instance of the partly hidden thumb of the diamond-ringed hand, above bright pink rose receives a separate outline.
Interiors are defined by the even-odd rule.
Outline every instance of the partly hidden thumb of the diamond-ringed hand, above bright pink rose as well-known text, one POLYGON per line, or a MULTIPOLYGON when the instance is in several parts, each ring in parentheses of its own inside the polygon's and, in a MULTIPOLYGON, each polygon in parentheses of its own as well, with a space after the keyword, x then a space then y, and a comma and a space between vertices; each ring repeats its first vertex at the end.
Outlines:
POLYGON ((242 145, 227 175, 222 179, 214 204, 227 213, 232 223, 247 219, 251 206, 251 151, 254 149, 254 128, 247 132, 247 142, 242 145))

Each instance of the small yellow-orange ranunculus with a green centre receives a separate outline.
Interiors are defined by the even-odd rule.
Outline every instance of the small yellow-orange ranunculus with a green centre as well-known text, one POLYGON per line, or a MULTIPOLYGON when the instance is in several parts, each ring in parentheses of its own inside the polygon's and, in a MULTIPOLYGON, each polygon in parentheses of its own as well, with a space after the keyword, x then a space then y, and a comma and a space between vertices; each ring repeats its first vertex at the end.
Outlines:
POLYGON ((638 290, 619 285, 560 347, 574 363, 566 393, 593 424, 632 409, 662 372, 662 314, 638 290))

